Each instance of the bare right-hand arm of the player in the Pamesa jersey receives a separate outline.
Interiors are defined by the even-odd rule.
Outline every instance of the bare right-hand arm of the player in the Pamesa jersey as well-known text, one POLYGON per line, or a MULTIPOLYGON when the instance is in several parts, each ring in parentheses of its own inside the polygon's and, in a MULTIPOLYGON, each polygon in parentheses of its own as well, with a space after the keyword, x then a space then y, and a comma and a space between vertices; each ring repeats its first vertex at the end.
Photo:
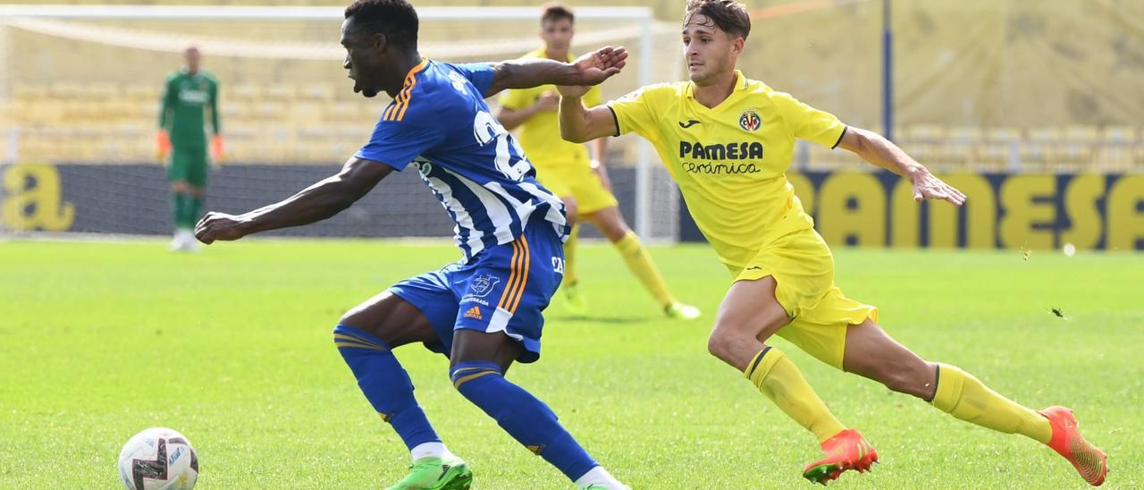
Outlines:
POLYGON ((919 164, 897 144, 872 131, 847 127, 839 148, 858 153, 864 160, 877 165, 906 179, 914 184, 914 200, 940 199, 958 206, 966 203, 966 195, 934 176, 929 168, 919 164))

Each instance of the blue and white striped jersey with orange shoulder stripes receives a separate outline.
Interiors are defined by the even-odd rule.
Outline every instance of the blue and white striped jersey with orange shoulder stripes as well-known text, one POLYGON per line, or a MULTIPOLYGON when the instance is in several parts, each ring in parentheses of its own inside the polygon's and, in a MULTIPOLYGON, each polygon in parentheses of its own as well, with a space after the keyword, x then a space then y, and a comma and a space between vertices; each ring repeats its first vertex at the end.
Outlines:
POLYGON ((564 204, 537 182, 519 143, 488 111, 492 79, 487 64, 422 60, 355 155, 398 171, 415 164, 453 219, 466 260, 527 226, 551 226, 562 240, 570 230, 564 204))

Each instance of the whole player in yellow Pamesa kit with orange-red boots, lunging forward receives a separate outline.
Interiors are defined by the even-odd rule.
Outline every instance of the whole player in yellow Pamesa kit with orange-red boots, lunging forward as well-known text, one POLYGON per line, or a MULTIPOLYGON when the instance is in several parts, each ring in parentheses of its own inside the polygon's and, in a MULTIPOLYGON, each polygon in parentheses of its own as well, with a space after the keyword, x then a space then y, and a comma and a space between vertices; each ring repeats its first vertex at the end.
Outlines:
POLYGON ((696 223, 734 277, 708 349, 742 371, 784 412, 812 432, 825 457, 803 476, 826 483, 877 460, 769 343, 778 334, 823 362, 914 395, 950 414, 1048 444, 1090 484, 1107 473, 1072 411, 1034 411, 948 364, 922 359, 877 325, 877 309, 842 294, 834 261, 785 172, 795 139, 841 147, 909 179, 914 199, 961 205, 966 196, 884 137, 776 92, 736 70, 750 17, 733 0, 689 0, 683 44, 690 81, 643 87, 586 109, 582 87, 559 87, 561 131, 588 141, 634 132, 652 142, 678 182, 696 223))

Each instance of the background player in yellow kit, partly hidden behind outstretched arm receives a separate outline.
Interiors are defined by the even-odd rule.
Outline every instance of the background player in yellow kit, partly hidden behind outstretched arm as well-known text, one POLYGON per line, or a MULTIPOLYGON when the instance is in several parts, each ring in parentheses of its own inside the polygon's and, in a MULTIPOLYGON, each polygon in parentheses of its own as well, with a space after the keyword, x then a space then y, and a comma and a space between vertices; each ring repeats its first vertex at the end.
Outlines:
MULTIPOLYGON (((561 3, 548 3, 541 9, 540 37, 545 47, 526 54, 526 58, 574 60, 569 45, 574 33, 575 16, 561 3)), ((580 291, 577 276, 575 247, 580 220, 599 229, 615 246, 631 270, 652 298, 670 317, 698 318, 698 308, 681 303, 667 291, 667 284, 651 261, 651 255, 639 242, 617 208, 611 192, 611 182, 604 166, 605 140, 597 139, 595 159, 589 159, 583 144, 569 143, 561 139, 556 120, 556 104, 559 97, 551 85, 506 90, 500 98, 501 110, 496 114, 501 125, 513 131, 521 128, 521 145, 529 160, 537 168, 537 179, 546 188, 564 200, 572 235, 564 244, 564 294, 569 310, 583 315, 588 310, 587 300, 580 291)), ((599 89, 593 87, 585 96, 589 105, 599 103, 599 89)))

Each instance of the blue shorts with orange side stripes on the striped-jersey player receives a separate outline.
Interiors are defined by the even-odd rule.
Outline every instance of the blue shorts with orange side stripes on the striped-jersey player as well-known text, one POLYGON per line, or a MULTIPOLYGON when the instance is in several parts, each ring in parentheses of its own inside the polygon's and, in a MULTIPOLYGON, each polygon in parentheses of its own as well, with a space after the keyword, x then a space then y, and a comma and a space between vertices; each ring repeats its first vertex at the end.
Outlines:
POLYGON ((524 346, 522 363, 540 358, 541 311, 564 278, 564 244, 534 222, 515 242, 480 251, 469 262, 402 280, 389 289, 429 319, 440 339, 426 342, 448 356, 453 331, 505 332, 524 346))

